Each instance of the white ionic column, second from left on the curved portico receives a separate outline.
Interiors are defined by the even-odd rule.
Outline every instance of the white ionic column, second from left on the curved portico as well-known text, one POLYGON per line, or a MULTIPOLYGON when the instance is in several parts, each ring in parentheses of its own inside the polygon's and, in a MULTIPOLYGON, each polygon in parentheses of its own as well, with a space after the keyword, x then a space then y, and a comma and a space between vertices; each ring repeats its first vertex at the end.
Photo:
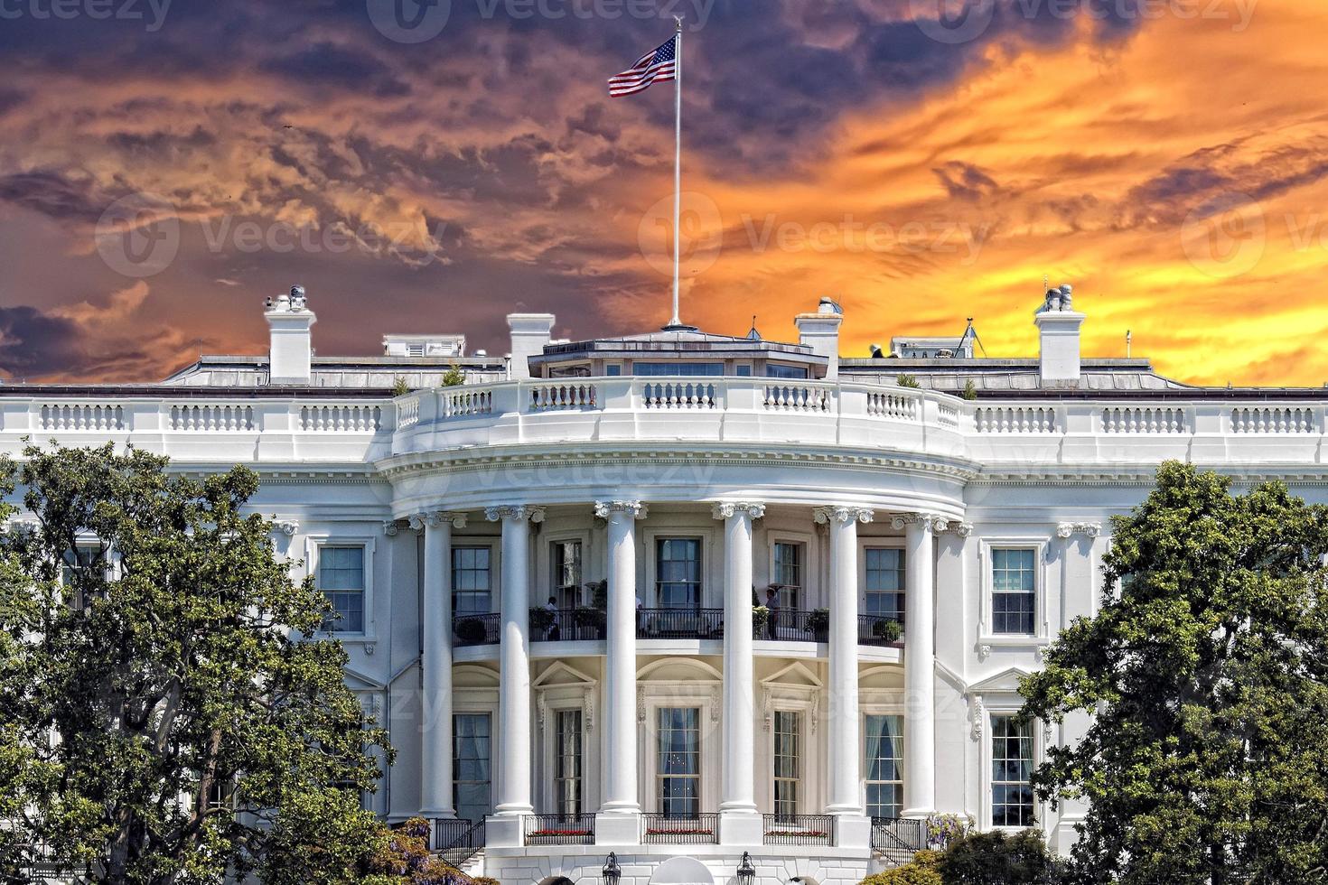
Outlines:
POLYGON ((490 523, 502 521, 502 606, 498 659, 498 804, 503 817, 534 813, 530 796, 530 523, 542 507, 490 507, 490 523))

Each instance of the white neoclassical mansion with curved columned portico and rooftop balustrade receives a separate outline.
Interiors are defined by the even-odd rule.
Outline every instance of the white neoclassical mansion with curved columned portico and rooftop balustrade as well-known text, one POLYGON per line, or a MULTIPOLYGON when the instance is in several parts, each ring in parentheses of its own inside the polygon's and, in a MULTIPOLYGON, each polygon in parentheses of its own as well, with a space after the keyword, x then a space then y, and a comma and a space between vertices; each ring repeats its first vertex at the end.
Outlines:
POLYGON ((789 344, 552 342, 552 316, 514 314, 509 357, 456 334, 316 356, 299 288, 266 317, 267 356, 159 385, 0 386, 0 444, 258 470, 398 751, 365 803, 505 885, 595 881, 610 853, 628 885, 744 862, 841 885, 936 813, 1064 851, 1082 809, 1028 772, 1085 723, 1012 714, 1094 612, 1110 517, 1167 458, 1328 500, 1324 390, 1081 358, 1068 287, 1029 360, 843 358, 827 300, 789 344))

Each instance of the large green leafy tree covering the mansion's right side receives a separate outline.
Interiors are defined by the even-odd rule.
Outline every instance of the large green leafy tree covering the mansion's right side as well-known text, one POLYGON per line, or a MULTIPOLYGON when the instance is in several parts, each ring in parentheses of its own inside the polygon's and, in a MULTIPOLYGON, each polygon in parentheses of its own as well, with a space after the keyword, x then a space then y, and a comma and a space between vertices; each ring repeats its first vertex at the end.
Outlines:
POLYGON ((1024 714, 1096 714, 1042 799, 1084 799, 1084 881, 1312 882, 1328 865, 1328 510, 1169 462, 1114 520, 1100 613, 1024 679, 1024 714))

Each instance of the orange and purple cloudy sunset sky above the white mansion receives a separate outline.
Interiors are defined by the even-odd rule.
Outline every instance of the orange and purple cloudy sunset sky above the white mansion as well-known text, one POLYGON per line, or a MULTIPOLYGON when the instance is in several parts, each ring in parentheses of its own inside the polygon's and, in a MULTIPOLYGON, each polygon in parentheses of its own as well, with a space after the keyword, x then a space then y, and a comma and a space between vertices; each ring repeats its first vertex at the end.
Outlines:
POLYGON ((1086 356, 1328 382, 1324 0, 52 1, 0 0, 7 375, 263 353, 295 283, 323 354, 657 328, 673 88, 606 80, 677 12, 685 320, 1033 356, 1045 276, 1086 356))

